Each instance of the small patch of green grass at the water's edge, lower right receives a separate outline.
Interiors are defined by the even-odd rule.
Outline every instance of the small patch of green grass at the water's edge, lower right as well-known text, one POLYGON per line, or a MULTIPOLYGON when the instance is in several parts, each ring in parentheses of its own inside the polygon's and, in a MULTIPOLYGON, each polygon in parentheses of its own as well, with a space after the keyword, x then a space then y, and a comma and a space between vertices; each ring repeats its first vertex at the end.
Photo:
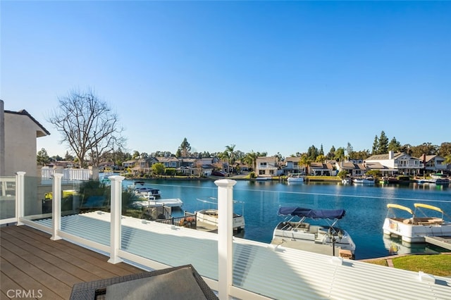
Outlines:
MULTIPOLYGON (((423 271, 436 276, 451 276, 451 255, 409 255, 393 258, 393 266, 397 269, 414 272, 423 271)), ((376 265, 388 265, 386 259, 369 261, 376 265)))

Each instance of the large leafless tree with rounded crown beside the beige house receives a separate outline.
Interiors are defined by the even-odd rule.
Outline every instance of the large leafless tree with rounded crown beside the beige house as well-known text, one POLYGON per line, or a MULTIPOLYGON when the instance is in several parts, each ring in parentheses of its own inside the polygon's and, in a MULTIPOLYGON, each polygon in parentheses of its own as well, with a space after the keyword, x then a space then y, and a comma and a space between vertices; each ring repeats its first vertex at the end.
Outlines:
POLYGON ((102 155, 123 149, 125 138, 121 137, 118 116, 92 89, 73 89, 67 96, 58 97, 58 102, 48 121, 61 132, 61 143, 68 143, 80 167, 85 166, 88 154, 92 165, 99 165, 102 155))

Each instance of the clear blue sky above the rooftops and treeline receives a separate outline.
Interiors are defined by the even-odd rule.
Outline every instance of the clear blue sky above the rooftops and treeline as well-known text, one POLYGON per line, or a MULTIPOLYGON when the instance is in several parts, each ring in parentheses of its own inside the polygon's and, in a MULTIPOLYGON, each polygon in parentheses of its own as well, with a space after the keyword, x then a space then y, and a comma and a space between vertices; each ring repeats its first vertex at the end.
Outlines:
POLYGON ((370 149, 381 131, 451 142, 450 1, 1 1, 0 98, 51 132, 95 90, 128 151, 290 156, 370 149))

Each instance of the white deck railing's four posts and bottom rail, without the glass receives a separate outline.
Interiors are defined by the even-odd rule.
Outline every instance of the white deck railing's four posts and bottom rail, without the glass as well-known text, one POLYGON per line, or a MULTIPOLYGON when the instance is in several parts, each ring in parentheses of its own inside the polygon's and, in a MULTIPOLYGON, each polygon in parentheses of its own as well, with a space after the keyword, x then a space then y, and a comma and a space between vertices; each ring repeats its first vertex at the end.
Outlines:
MULTIPOLYGON (((9 223, 17 223, 17 225, 31 225, 38 229, 49 231, 48 227, 37 225, 32 220, 28 220, 24 216, 23 204, 24 196, 24 175, 25 172, 18 172, 16 175, 16 218, 9 220, 9 223)), ((63 174, 54 173, 52 175, 52 222, 51 222, 51 239, 58 240, 63 237, 70 239, 70 236, 61 231, 61 180, 63 174), (62 237, 63 236, 63 237, 62 237)), ((111 219, 110 219, 110 246, 102 247, 102 251, 109 253, 109 263, 120 263, 123 257, 130 261, 130 254, 121 249, 121 204, 122 204, 122 182, 125 177, 120 175, 113 175, 109 177, 111 180, 111 219)), ((264 296, 259 296, 252 292, 245 292, 245 290, 238 287, 233 287, 233 186, 236 184, 235 180, 216 180, 215 184, 218 186, 218 281, 207 280, 209 285, 217 289, 219 299, 230 299, 231 297, 242 298, 242 294, 252 294, 252 299, 267 299, 264 296), (216 287, 216 288, 215 288, 216 287), (230 292, 235 291, 235 292, 230 292)), ((83 239, 73 237, 73 242, 84 244, 92 247, 92 245, 85 244, 83 239)), ((132 256, 131 256, 132 257, 132 256)), ((147 259, 147 258, 144 258, 147 259)), ((152 264, 152 260, 149 265, 152 264)), ((142 264, 142 258, 135 263, 142 264)))

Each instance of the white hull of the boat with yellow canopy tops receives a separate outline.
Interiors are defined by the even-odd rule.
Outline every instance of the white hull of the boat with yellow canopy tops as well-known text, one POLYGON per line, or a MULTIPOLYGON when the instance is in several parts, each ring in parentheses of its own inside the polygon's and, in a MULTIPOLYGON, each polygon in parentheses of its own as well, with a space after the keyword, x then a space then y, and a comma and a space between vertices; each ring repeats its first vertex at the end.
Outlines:
MULTIPOLYGON (((421 219, 421 218, 419 218, 421 219)), ((424 243, 424 237, 451 236, 451 223, 443 223, 437 218, 424 218, 424 222, 412 224, 412 218, 385 218, 383 223, 384 235, 401 237, 408 243, 424 243), (426 220, 428 219, 428 220, 426 220)))

